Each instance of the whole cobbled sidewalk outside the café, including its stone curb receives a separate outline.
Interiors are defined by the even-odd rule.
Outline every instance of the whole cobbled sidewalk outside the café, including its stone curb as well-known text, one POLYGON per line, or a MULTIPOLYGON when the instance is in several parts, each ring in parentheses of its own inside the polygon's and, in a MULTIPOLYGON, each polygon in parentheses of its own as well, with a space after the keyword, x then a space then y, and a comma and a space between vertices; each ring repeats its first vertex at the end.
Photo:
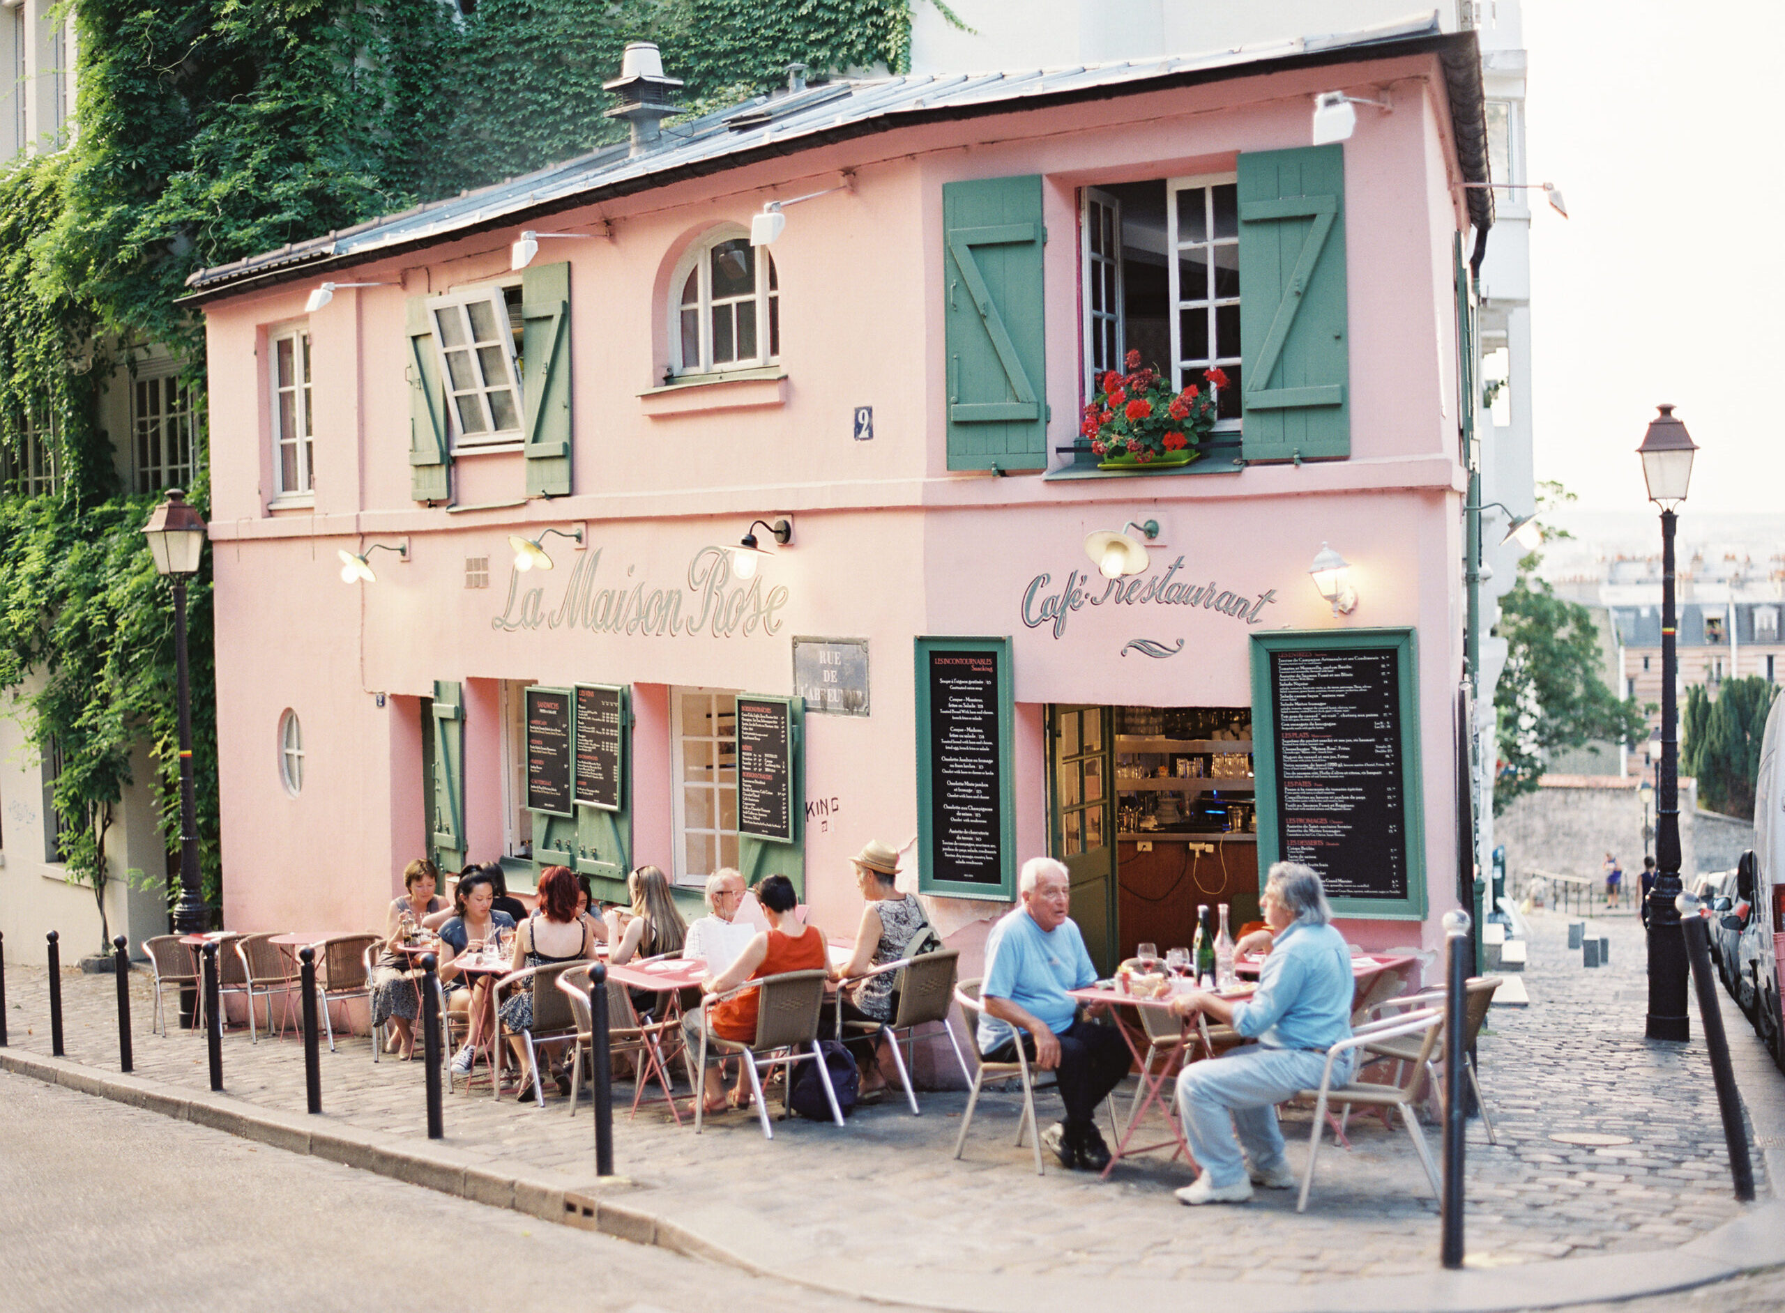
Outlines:
MULTIPOLYGON (((12 1049, 0 1067, 218 1126, 298 1152, 368 1167, 450 1193, 659 1243, 882 1302, 1037 1309, 1200 1297, 1246 1309, 1510 1309, 1621 1299, 1785 1263, 1785 1163, 1756 1154, 1760 1202, 1730 1190, 1699 1026, 1689 1045, 1642 1038, 1640 926, 1596 922, 1612 965, 1580 967, 1567 919, 1532 919, 1532 1006, 1494 1010, 1482 1083, 1498 1145, 1469 1126, 1471 1270, 1442 1272, 1439 1220, 1405 1131, 1353 1117, 1353 1149, 1326 1147, 1308 1211, 1294 1192, 1239 1208, 1185 1210, 1182 1161, 1117 1165, 1107 1183, 1050 1167, 1035 1177, 1014 1144, 1016 1095, 982 1097, 962 1161, 951 1158, 960 1094, 862 1108, 850 1126, 726 1115, 702 1136, 662 1104, 627 1120, 616 1086, 618 1179, 598 1181, 587 1104, 566 1115, 461 1090, 446 1138, 425 1138, 419 1063, 373 1065, 364 1038, 323 1053, 321 1117, 303 1113, 302 1045, 225 1036, 227 1094, 209 1092, 202 1036, 146 1033, 146 981, 132 981, 134 1078, 118 1076, 114 981, 64 976, 68 1060, 48 1053, 43 972, 9 972, 12 1049), (1555 1136, 1617 1136, 1569 1144, 1555 1136), (1664 1251, 1664 1252, 1656 1252, 1664 1251), (1671 1251, 1671 1252, 1667 1252, 1671 1251), (1642 1261, 1631 1261, 1640 1254, 1642 1261)), ((1730 1010, 1744 1099, 1764 1133, 1785 1129, 1785 1078, 1751 1060, 1730 1010), (1773 1127, 1773 1129, 1765 1129, 1773 1127)), ((621 1099, 621 1092, 625 1099, 621 1099)), ((1050 1113, 1042 1101, 1042 1119, 1050 1113)), ((1291 1163, 1308 1113, 1291 1111, 1291 1163)), ((1426 1127, 1433 1154, 1439 1127, 1426 1127)), ((1153 1136, 1158 1138, 1158 1136, 1153 1136)), ((1785 1138, 1780 1140, 1785 1144, 1785 1138)))

